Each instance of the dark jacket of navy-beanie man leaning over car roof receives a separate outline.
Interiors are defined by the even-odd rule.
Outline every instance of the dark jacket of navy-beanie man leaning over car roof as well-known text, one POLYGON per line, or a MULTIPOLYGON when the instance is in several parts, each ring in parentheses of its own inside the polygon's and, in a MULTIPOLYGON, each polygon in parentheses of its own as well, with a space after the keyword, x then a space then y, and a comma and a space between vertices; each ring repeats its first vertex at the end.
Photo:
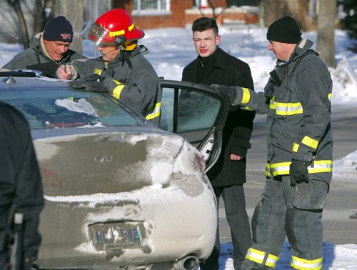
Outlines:
POLYGON ((55 77, 56 69, 59 64, 70 63, 75 59, 86 59, 86 56, 78 54, 76 51, 69 49, 61 61, 57 62, 51 59, 44 47, 42 33, 36 34, 31 41, 31 46, 16 54, 3 69, 36 69, 44 72, 44 76, 55 77), (33 66, 33 65, 36 65, 33 66))

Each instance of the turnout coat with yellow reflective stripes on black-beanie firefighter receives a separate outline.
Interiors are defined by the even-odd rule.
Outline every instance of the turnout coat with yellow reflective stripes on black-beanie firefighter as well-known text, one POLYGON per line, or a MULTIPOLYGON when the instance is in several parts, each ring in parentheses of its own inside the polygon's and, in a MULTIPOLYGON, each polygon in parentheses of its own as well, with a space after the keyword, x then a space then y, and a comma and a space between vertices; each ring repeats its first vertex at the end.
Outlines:
POLYGON ((290 59, 277 62, 264 92, 242 89, 234 104, 267 114, 266 176, 289 174, 292 159, 311 162, 313 178, 331 182, 332 80, 326 65, 302 39, 290 59))

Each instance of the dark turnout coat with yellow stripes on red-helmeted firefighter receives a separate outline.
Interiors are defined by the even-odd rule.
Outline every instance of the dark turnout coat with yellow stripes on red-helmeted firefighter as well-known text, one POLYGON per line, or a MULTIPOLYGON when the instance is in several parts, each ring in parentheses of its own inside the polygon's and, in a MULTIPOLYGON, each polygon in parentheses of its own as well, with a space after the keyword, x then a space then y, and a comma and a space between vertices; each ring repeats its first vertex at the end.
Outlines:
POLYGON ((102 57, 73 61, 72 65, 79 78, 92 74, 106 77, 103 84, 111 96, 125 101, 158 126, 161 113, 159 76, 145 58, 146 52, 146 47, 140 45, 133 51, 122 51, 108 66, 102 57))

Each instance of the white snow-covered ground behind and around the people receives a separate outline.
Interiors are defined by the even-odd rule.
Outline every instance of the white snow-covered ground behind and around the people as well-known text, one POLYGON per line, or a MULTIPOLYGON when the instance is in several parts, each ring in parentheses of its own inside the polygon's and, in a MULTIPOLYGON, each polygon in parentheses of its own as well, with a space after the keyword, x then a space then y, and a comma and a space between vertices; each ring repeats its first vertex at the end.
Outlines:
MULTIPOLYGON (((268 72, 273 69, 276 61, 267 49, 266 29, 258 29, 256 26, 222 26, 220 34, 221 48, 251 66, 255 89, 263 91, 268 72)), ((316 32, 303 33, 303 37, 315 42, 316 32)), ((159 76, 164 76, 165 79, 181 80, 183 67, 197 56, 189 29, 151 29, 146 31, 146 36, 139 44, 148 47, 147 58, 159 76)), ((330 69, 333 77, 332 103, 348 103, 356 108, 357 112, 357 54, 348 51, 349 44, 351 43, 346 32, 336 30, 335 50, 338 65, 336 69, 330 69)), ((19 44, 0 44, 0 66, 4 66, 21 50, 19 44)), ((84 42, 84 54, 89 57, 96 55, 94 46, 89 42, 84 42)), ((334 175, 357 180, 356 149, 357 146, 351 145, 351 154, 334 161, 334 175)), ((351 219, 351 222, 354 221, 351 219)), ((289 245, 286 243, 283 245, 277 269, 290 269, 290 256, 289 245)), ((222 244, 220 270, 233 270, 231 257, 231 243, 222 244)), ((323 258, 323 269, 357 269, 357 239, 351 239, 351 244, 345 245, 324 243, 323 258)))

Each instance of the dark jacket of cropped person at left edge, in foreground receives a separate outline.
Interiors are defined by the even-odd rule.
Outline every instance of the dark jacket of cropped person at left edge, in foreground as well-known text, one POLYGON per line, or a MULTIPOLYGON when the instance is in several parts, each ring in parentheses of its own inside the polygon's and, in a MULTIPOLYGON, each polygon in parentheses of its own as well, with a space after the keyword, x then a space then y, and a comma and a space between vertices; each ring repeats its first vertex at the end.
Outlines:
MULTIPOLYGON (((2 102, 0 149, 0 234, 6 231, 6 221, 13 206, 16 212, 24 214, 22 254, 25 259, 34 261, 41 244, 39 214, 44 208, 39 165, 29 124, 19 111, 2 102)), ((4 252, 0 252, 1 266, 4 266, 4 260, 4 252)))

